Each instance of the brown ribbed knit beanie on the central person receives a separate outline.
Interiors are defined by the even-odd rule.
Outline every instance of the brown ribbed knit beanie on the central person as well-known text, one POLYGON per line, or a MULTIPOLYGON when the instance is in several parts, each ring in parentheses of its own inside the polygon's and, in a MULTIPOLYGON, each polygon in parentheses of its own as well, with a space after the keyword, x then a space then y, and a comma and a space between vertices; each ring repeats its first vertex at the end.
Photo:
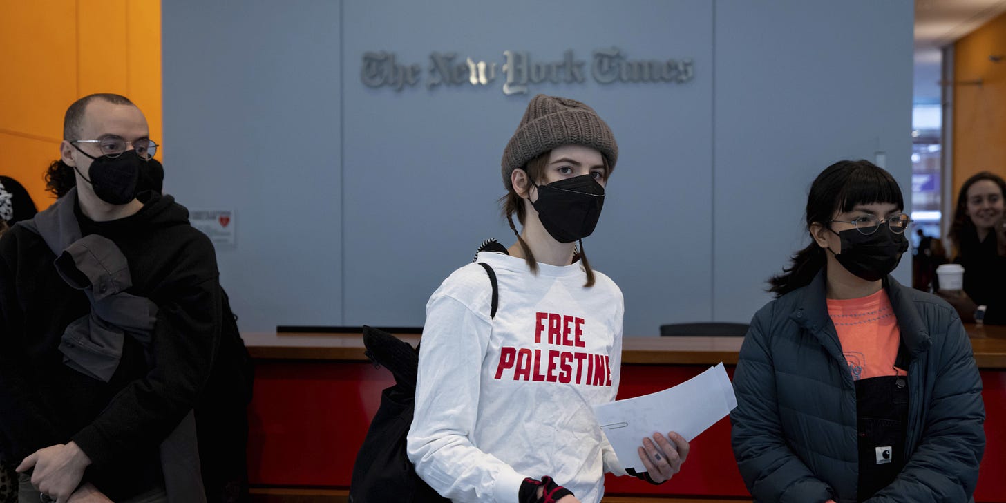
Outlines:
POLYGON ((509 190, 513 170, 563 145, 597 149, 611 170, 619 159, 615 135, 594 109, 575 100, 538 95, 527 104, 520 126, 503 150, 503 185, 509 190))

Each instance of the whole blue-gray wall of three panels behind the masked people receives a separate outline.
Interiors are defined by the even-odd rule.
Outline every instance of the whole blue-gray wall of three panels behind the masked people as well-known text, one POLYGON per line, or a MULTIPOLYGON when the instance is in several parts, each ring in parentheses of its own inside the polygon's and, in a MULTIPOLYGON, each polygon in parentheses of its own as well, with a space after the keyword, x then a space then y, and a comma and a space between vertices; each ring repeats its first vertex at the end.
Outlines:
POLYGON ((244 330, 422 325, 426 299, 482 239, 513 241, 499 159, 536 93, 588 103, 618 138, 584 245, 625 293, 629 335, 749 319, 803 245, 807 188, 828 164, 884 151, 910 187, 906 0, 220 4, 162 7, 165 186, 235 211, 237 244, 217 256, 244 330), (432 52, 502 64, 504 50, 572 49, 589 73, 611 46, 691 57, 694 78, 588 75, 514 96, 502 77, 425 85, 432 52), (365 87, 375 50, 421 64, 424 83, 365 87))

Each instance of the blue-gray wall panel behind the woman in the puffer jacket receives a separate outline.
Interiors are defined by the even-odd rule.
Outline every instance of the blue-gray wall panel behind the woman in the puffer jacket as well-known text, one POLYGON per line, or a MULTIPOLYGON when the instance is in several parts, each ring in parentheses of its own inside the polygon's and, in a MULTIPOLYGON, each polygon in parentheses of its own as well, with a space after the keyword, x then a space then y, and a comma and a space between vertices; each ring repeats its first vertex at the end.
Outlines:
POLYGON ((911 35, 906 0, 717 0, 717 320, 771 299, 766 280, 810 242, 807 192, 828 165, 884 152, 909 203, 911 35))

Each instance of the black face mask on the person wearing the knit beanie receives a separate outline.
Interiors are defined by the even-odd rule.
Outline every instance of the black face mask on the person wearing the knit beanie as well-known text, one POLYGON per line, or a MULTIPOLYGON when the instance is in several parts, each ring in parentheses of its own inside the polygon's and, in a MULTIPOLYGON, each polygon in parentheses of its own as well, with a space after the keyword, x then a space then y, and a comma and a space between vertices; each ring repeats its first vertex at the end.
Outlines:
POLYGON ((591 235, 605 205, 605 187, 593 175, 574 176, 540 185, 532 202, 541 225, 559 242, 591 235))

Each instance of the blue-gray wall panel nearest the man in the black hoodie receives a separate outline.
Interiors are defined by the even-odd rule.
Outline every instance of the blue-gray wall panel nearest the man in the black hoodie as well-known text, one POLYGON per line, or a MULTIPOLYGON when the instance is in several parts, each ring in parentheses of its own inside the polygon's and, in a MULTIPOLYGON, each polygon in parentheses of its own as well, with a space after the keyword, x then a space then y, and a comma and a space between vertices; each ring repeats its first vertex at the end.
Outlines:
POLYGON ((165 191, 234 211, 241 328, 338 323, 339 4, 172 0, 162 22, 165 191))

